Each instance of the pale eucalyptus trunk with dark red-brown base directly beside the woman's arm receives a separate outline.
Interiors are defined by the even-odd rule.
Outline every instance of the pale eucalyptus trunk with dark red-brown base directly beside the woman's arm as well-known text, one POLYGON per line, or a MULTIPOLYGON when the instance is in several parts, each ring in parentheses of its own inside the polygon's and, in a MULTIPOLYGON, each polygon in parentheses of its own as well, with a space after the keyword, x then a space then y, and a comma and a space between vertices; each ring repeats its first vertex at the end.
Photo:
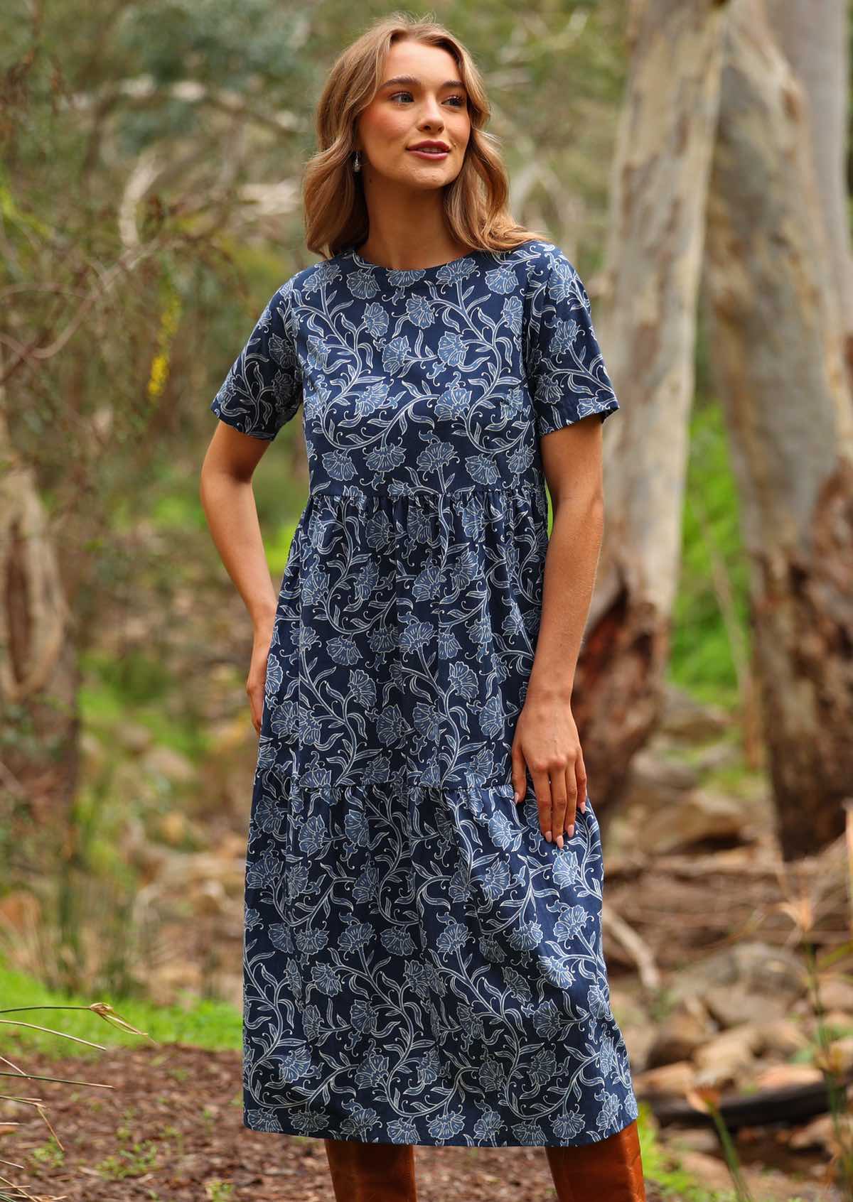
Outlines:
POLYGON ((610 186, 596 329, 622 411, 604 428, 606 517, 576 672, 590 796, 608 810, 653 731, 681 559, 705 194, 722 23, 712 0, 647 0, 610 186))

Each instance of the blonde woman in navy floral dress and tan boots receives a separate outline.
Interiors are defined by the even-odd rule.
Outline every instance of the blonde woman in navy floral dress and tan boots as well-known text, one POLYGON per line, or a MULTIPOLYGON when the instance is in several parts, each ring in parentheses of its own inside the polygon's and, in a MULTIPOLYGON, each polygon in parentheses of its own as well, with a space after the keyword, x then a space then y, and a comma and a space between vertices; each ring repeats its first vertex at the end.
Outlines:
POLYGON ((571 714, 618 403, 577 273, 509 215, 487 115, 433 22, 342 54, 304 180, 322 261, 211 405, 202 500, 260 736, 244 1125, 322 1137, 348 1202, 413 1200, 414 1144, 540 1146, 559 1198, 636 1202, 571 714), (310 492, 276 597, 250 481, 300 403, 310 492))

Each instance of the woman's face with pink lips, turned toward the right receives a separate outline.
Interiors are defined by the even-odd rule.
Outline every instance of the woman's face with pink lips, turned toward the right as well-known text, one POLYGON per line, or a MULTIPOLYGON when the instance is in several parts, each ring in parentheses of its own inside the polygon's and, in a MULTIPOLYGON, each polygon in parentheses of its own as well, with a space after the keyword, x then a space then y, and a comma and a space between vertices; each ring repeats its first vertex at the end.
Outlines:
POLYGON ((380 78, 356 129, 367 179, 383 177, 414 189, 451 183, 470 136, 468 96, 454 56, 438 46, 395 42, 380 78), (430 157, 411 149, 427 141, 443 142, 448 153, 430 157))

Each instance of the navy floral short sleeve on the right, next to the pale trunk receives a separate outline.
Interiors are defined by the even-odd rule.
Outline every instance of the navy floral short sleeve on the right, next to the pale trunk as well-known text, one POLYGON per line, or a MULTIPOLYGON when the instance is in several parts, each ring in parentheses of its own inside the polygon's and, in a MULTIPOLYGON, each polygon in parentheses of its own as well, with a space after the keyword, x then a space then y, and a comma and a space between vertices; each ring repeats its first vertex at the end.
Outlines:
POLYGON ((558 248, 532 274, 527 309, 526 367, 534 427, 541 438, 620 407, 604 367, 584 282, 558 248))

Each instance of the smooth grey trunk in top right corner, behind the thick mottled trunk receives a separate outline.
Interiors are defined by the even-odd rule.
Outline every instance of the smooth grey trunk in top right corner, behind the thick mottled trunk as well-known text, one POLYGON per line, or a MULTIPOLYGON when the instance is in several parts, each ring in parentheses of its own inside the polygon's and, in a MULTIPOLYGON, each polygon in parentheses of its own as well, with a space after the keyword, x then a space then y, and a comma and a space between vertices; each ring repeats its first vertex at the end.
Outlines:
POLYGON ((849 12, 842 0, 770 0, 778 48, 802 87, 830 273, 841 305, 848 379, 853 380, 853 261, 847 198, 849 12))

